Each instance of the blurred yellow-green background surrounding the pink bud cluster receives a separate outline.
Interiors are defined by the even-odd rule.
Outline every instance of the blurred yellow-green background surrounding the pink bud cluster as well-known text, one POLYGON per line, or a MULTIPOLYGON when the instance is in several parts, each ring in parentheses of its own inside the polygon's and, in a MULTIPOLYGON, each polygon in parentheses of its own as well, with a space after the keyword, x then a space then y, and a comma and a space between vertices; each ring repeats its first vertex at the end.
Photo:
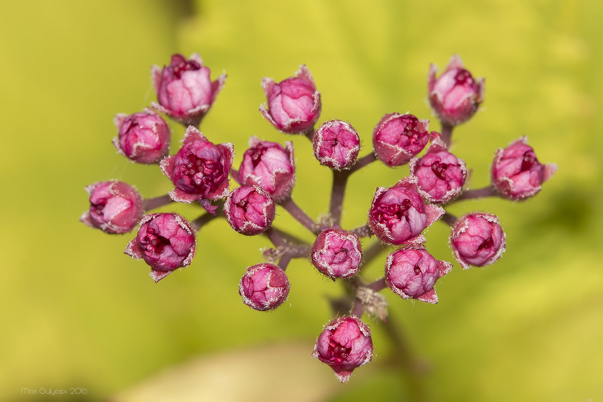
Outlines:
MULTIPOLYGON (((87 400, 136 398, 154 375, 207 359, 218 378, 215 400, 285 400, 287 392, 293 400, 601 400, 601 16, 601 2, 575 0, 7 2, 0 14, 0 400, 28 399, 24 387, 83 387, 87 400), (325 296, 340 289, 305 261, 289 266, 291 295, 279 310, 244 306, 238 280, 261 260, 262 237, 212 222, 192 266, 154 284, 144 263, 122 254, 132 235, 107 236, 78 222, 87 207, 83 187, 94 181, 124 180, 145 196, 171 188, 156 166, 115 152, 113 115, 154 100, 151 64, 194 51, 212 77, 229 75, 201 131, 233 142, 235 165, 251 135, 293 140, 293 195, 314 218, 326 210, 329 172, 308 140, 277 133, 257 111, 260 78, 282 80, 301 63, 323 96, 319 123, 351 122, 366 154, 384 113, 411 111, 438 129, 425 104, 428 66, 443 67, 458 52, 486 78, 482 111, 453 134, 453 151, 473 169, 472 187, 488 183, 494 150, 523 134, 542 162, 558 163, 535 199, 450 208, 500 217, 508 248, 495 265, 455 265, 437 286, 435 306, 385 292, 392 318, 428 367, 418 382, 409 386, 386 364, 391 343, 372 319, 375 357, 347 385, 310 357, 330 318, 325 296), (288 352, 279 359, 271 350, 288 352), (275 361, 276 371, 264 367, 275 361), (245 365, 257 368, 239 372, 245 365)), ((183 128, 172 127, 175 152, 183 128)), ((374 164, 355 175, 344 226, 361 225, 374 187, 407 172, 374 164)), ((286 213, 276 225, 311 240, 286 213)), ((437 222, 428 247, 439 259, 452 258, 446 239, 437 222)), ((380 275, 383 260, 367 278, 380 275)), ((206 376, 193 372, 198 380, 171 391, 169 380, 151 381, 161 385, 151 395, 174 400, 206 376)))

